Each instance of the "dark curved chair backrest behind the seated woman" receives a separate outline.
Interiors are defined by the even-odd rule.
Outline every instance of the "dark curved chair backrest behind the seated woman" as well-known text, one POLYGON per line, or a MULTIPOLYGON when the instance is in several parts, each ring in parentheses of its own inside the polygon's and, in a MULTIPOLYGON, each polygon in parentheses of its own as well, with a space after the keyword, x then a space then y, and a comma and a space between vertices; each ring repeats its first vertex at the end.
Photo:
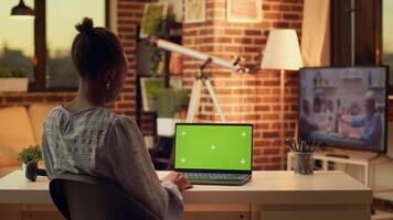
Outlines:
POLYGON ((116 184, 87 175, 59 175, 51 180, 50 193, 66 219, 162 219, 116 184))

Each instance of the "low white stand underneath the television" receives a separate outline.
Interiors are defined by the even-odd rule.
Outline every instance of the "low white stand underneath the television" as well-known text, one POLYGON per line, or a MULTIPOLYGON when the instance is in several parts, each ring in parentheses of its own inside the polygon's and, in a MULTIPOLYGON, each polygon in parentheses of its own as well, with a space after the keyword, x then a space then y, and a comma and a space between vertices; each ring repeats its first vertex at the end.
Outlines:
MULTIPOLYGON (((336 150, 336 148, 325 148, 319 150, 314 153, 314 160, 320 161, 323 170, 329 170, 329 163, 340 163, 350 164, 363 167, 362 179, 360 179, 364 185, 371 187, 370 176, 371 166, 374 163, 379 163, 381 160, 379 153, 372 152, 361 152, 361 151, 350 151, 350 150, 336 150)), ((288 152, 287 155, 287 169, 290 170, 294 167, 293 153, 288 152)))

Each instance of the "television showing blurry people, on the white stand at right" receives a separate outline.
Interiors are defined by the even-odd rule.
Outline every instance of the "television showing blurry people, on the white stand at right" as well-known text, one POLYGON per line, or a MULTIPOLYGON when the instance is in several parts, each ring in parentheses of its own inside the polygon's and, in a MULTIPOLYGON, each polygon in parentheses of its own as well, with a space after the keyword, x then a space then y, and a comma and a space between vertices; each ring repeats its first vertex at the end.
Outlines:
POLYGON ((300 69, 299 139, 386 152, 387 66, 300 69))

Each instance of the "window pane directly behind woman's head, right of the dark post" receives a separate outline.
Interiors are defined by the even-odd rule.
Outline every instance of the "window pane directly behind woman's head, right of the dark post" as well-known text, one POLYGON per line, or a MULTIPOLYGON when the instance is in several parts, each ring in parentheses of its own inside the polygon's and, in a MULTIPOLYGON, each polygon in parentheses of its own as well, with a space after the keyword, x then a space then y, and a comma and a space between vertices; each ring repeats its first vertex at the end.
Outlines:
POLYGON ((105 26, 105 0, 46 1, 46 88, 77 86, 71 45, 77 34, 74 26, 84 16, 93 18, 95 26, 105 26))

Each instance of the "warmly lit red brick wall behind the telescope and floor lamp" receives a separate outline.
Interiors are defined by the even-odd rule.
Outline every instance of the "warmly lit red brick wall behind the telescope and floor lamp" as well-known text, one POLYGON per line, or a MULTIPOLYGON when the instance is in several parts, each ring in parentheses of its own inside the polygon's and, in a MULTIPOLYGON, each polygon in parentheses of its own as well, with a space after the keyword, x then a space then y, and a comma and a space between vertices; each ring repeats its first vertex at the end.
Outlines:
MULTIPOLYGON (((258 23, 234 23, 225 19, 225 0, 206 0, 206 21, 183 25, 183 44, 225 59, 242 55, 253 64, 266 44, 268 31, 290 28, 300 32, 301 0, 264 0, 263 20, 258 23)), ((184 61, 184 82, 190 89, 200 62, 184 61)), ((279 169, 285 152, 280 147, 279 73, 259 72, 241 75, 214 65, 211 74, 221 107, 229 122, 254 124, 254 168, 279 169)), ((285 132, 294 134, 297 118, 298 74, 286 74, 285 132)), ((219 122, 220 118, 204 90, 199 121, 219 122)))

